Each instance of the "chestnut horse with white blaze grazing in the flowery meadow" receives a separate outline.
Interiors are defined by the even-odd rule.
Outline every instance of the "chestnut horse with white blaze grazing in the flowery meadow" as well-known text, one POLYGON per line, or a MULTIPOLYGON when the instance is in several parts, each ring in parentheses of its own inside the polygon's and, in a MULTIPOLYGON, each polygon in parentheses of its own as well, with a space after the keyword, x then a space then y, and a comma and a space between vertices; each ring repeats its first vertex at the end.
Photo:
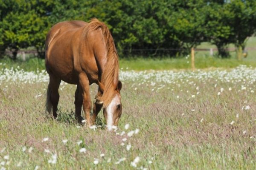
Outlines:
POLYGON ((108 27, 97 19, 65 21, 54 25, 45 43, 45 67, 49 74, 46 111, 57 118, 58 88, 61 80, 77 85, 75 92, 76 119, 82 122, 81 107, 89 126, 103 107, 108 130, 117 126, 122 114, 118 80, 119 62, 113 37, 108 27), (91 101, 89 85, 99 85, 98 94, 91 101))

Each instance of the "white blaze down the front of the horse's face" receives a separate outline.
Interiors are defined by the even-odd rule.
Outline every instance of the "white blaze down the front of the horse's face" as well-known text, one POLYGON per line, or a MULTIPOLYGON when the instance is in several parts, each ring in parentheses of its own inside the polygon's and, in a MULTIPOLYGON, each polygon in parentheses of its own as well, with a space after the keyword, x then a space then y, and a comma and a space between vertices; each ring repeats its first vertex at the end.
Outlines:
POLYGON ((116 109, 116 106, 120 104, 120 99, 118 97, 118 95, 116 94, 116 96, 113 97, 111 103, 108 105, 107 107, 107 115, 108 115, 108 118, 107 118, 107 126, 108 126, 108 130, 112 130, 112 126, 113 126, 113 114, 114 114, 114 111, 116 109))

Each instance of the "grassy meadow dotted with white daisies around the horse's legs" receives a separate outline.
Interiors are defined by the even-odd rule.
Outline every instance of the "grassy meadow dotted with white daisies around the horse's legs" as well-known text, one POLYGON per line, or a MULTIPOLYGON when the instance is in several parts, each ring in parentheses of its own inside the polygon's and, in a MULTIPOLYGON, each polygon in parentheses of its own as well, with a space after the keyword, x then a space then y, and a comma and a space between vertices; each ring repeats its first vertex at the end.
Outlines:
POLYGON ((76 124, 74 85, 61 83, 53 120, 44 71, 0 70, 0 169, 256 168, 255 68, 122 69, 119 78, 123 113, 111 133, 102 112, 96 129, 76 124))

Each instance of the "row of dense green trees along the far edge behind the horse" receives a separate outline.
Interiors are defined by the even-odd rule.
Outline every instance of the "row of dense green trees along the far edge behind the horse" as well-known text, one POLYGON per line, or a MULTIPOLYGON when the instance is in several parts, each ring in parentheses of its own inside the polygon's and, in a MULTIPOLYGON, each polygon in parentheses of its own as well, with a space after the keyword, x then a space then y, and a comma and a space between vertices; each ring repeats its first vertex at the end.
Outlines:
POLYGON ((256 1, 1 1, 0 56, 9 49, 9 56, 16 59, 20 48, 33 47, 43 58, 44 40, 51 26, 93 17, 108 25, 121 57, 185 56, 191 47, 209 42, 216 45, 216 55, 221 57, 230 57, 225 48, 234 44, 241 58, 247 37, 256 30, 256 1))

